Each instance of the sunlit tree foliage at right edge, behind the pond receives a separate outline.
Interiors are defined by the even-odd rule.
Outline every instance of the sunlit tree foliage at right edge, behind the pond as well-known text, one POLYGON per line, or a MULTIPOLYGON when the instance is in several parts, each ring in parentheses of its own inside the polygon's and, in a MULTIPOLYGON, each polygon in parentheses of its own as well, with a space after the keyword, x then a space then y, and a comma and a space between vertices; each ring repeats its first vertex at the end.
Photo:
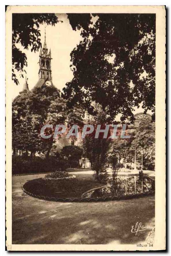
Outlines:
POLYGON ((112 164, 113 159, 119 162, 124 159, 125 163, 133 163, 136 143, 136 162, 141 167, 143 154, 143 166, 154 170, 155 166, 155 123, 142 121, 136 132, 131 134, 130 139, 115 139, 111 143, 108 161, 112 164))

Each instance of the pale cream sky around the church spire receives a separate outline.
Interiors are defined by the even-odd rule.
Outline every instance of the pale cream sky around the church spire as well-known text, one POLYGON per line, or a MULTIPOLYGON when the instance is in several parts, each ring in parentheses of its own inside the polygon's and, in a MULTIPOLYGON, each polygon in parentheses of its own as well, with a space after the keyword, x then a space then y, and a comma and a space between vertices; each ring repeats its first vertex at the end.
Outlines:
MULTIPOLYGON (((80 35, 80 31, 72 30, 67 14, 57 14, 57 16, 63 23, 58 22, 55 26, 46 26, 46 44, 48 49, 51 48, 53 84, 62 91, 65 84, 73 78, 73 72, 70 69, 70 65, 72 64, 70 61, 70 53, 82 40, 82 36, 80 35)), ((40 25, 39 30, 43 46, 45 25, 40 25)), ((39 52, 31 52, 30 49, 24 50, 20 44, 17 46, 25 52, 27 56, 27 67, 25 67, 25 70, 27 72, 29 90, 31 90, 39 80, 39 52)), ((25 78, 20 78, 19 73, 17 72, 16 75, 19 80, 19 85, 16 85, 15 83, 12 85, 13 99, 23 90, 23 85, 25 83, 25 78)), ((134 114, 139 112, 143 112, 141 107, 138 109, 136 108, 134 114)), ((151 111, 147 111, 147 113, 152 114, 151 111)))

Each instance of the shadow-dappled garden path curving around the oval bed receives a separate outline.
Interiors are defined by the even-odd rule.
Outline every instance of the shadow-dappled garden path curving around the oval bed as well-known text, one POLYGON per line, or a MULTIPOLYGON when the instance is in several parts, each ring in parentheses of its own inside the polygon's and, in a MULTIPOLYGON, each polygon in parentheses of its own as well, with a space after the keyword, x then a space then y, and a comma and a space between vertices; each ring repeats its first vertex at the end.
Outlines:
MULTIPOLYGON (((13 244, 137 244, 154 227, 154 196, 98 203, 61 203, 25 195, 27 180, 45 174, 12 177, 13 244), (146 231, 131 233, 142 222, 146 231)), ((92 179, 89 172, 76 172, 92 179)))

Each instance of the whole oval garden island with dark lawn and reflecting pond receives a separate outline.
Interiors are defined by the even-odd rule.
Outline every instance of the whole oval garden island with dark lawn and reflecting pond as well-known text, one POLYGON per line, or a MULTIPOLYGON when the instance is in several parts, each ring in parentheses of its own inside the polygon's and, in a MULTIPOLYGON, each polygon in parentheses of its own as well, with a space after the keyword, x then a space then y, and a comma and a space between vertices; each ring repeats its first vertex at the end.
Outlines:
POLYGON ((141 181, 136 178, 135 195, 133 176, 119 176, 117 181, 109 179, 106 185, 100 186, 100 183, 93 180, 79 180, 68 174, 64 174, 66 177, 53 178, 59 175, 62 176, 56 172, 46 175, 45 178, 29 180, 22 188, 30 196, 60 202, 99 202, 154 195, 155 184, 148 177, 144 177, 143 193, 141 181))

